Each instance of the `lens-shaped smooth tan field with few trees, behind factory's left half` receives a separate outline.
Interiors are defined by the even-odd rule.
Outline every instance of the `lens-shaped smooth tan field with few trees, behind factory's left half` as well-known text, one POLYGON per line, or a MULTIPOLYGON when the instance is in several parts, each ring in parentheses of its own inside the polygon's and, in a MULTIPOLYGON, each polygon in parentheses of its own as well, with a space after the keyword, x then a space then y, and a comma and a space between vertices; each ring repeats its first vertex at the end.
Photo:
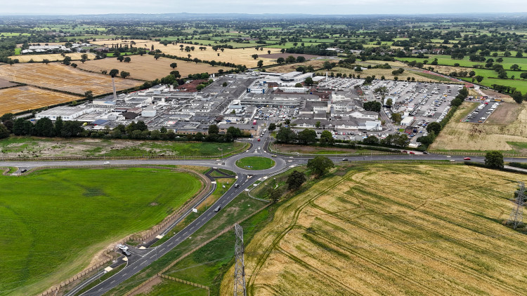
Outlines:
POLYGON ((188 74, 197 73, 217 73, 219 69, 228 70, 229 67, 212 67, 209 64, 185 62, 182 60, 173 60, 169 58, 159 58, 155 60, 152 55, 131 55, 131 62, 119 62, 117 58, 105 58, 103 60, 89 60, 84 64, 79 64, 79 69, 88 70, 91 72, 101 72, 111 69, 119 69, 119 71, 130 72, 130 77, 133 79, 141 79, 152 81, 161 79, 170 74, 171 71, 179 71, 181 77, 186 77, 188 74), (178 64, 176 69, 172 69, 170 64, 175 62, 178 64))

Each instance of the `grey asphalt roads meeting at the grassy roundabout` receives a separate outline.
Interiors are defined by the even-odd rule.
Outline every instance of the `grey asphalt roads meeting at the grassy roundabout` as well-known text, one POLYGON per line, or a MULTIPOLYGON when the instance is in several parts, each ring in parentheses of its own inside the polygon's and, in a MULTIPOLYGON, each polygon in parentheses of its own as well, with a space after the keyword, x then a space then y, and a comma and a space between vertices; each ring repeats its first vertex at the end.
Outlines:
MULTIPOLYGON (((90 290, 82 293, 86 296, 98 296, 103 295, 105 292, 108 292, 112 288, 115 288, 117 285, 126 281, 126 279, 131 278, 134 274, 137 274, 143 268, 147 267, 149 264, 152 264, 155 260, 167 254, 170 250, 177 247, 179 243, 185 241, 186 238, 193 235, 195 231, 200 229, 205 223, 211 220, 218 212, 215 209, 219 206, 221 209, 233 201, 238 194, 241 194, 245 189, 249 188, 256 180, 260 177, 271 175, 277 173, 280 170, 285 170, 292 166, 297 166, 307 163, 308 159, 311 157, 308 156, 282 156, 278 155, 273 157, 271 152, 268 152, 266 149, 267 145, 271 143, 271 137, 269 137, 269 132, 266 132, 263 137, 261 137, 261 142, 257 142, 256 138, 252 140, 252 146, 249 149, 241 154, 235 156, 230 156, 226 159, 219 160, 202 160, 202 161, 170 161, 170 160, 117 160, 110 161, 110 166, 134 166, 134 165, 191 165, 191 166, 207 166, 211 168, 226 168, 232 170, 238 175, 238 180, 236 184, 239 184, 238 188, 230 187, 223 196, 221 196, 216 203, 208 210, 205 210, 202 215, 197 217, 196 220, 191 222, 183 230, 179 231, 177 234, 169 238, 167 241, 158 245, 155 248, 147 249, 137 249, 131 248, 133 255, 129 257, 129 261, 117 274, 107 278, 105 281, 101 281, 98 285, 94 286, 90 290), (260 148, 260 149, 259 149, 260 148), (247 156, 263 156, 272 158, 276 164, 273 168, 266 170, 245 170, 238 168, 235 165, 236 160, 241 159, 247 156)), ((450 160, 450 161, 463 161, 464 156, 444 156, 444 155, 434 155, 434 154, 421 154, 421 155, 386 155, 386 156, 346 156, 349 161, 394 161, 394 160, 450 160)), ((330 157, 334 162, 342 161, 342 156, 332 156, 330 157)), ((471 156, 471 161, 483 162, 483 156, 471 156)), ((517 162, 527 162, 527 159, 508 159, 505 158, 505 161, 517 161, 517 162)), ((105 166, 105 161, 4 161, 0 162, 0 166, 10 166, 10 167, 19 167, 19 168, 38 168, 44 166, 105 166)), ((207 196, 205 196, 200 201, 197 201, 193 207, 199 206, 202 201, 204 201, 212 192, 214 191, 215 186, 209 191, 207 196)), ((221 211, 221 210, 220 210, 221 211)), ((190 210, 188 211, 190 213, 190 210)), ((180 221, 188 215, 186 213, 181 217, 180 221)), ((175 225, 174 223, 173 225, 175 225)), ((72 296, 79 290, 82 290, 86 285, 93 281, 97 281, 100 276, 104 274, 104 271, 98 272, 96 275, 91 276, 88 280, 82 282, 80 285, 75 287, 70 292, 65 294, 66 296, 72 296)))

